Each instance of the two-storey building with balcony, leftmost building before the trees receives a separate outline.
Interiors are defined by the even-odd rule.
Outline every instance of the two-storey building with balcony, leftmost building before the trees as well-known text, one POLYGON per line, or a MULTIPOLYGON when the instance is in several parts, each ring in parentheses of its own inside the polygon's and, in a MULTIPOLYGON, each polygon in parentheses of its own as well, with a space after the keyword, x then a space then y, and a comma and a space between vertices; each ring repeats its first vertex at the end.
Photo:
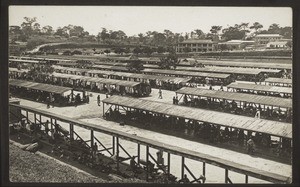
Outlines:
POLYGON ((217 43, 212 40, 188 39, 176 46, 176 52, 182 53, 186 49, 190 52, 208 52, 215 51, 217 43))

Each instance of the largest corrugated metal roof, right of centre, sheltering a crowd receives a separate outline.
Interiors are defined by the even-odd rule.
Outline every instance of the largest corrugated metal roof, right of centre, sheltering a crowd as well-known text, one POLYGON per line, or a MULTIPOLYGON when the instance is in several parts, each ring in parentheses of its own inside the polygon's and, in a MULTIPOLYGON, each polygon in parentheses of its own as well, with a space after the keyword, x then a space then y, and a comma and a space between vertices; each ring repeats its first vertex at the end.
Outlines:
POLYGON ((154 113, 177 116, 185 119, 208 122, 254 132, 267 133, 274 136, 292 138, 292 124, 290 123, 238 116, 234 114, 178 106, 144 99, 122 97, 117 95, 104 99, 103 103, 126 106, 130 108, 151 111, 154 113))

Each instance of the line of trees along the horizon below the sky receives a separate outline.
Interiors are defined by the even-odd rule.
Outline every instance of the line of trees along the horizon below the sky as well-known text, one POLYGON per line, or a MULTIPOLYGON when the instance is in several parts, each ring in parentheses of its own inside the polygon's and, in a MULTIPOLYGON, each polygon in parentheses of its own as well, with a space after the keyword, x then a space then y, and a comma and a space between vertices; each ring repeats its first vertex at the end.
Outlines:
MULTIPOLYGON (((122 30, 108 30, 102 28, 97 35, 91 35, 82 26, 67 25, 54 29, 50 25, 41 26, 37 22, 37 18, 24 17, 24 22, 20 26, 9 27, 9 37, 12 43, 15 41, 28 42, 36 36, 48 36, 53 38, 63 38, 66 40, 80 42, 95 42, 108 45, 146 45, 153 47, 174 46, 179 42, 193 39, 209 39, 213 41, 228 40, 251 40, 256 34, 280 34, 284 38, 292 38, 292 27, 280 27, 279 24, 273 23, 268 29, 263 29, 263 25, 259 22, 240 23, 233 26, 213 25, 208 33, 204 33, 201 29, 195 29, 191 32, 174 33, 170 30, 163 32, 147 31, 133 36, 127 36, 122 30)), ((148 50, 149 51, 149 50, 148 50)))

